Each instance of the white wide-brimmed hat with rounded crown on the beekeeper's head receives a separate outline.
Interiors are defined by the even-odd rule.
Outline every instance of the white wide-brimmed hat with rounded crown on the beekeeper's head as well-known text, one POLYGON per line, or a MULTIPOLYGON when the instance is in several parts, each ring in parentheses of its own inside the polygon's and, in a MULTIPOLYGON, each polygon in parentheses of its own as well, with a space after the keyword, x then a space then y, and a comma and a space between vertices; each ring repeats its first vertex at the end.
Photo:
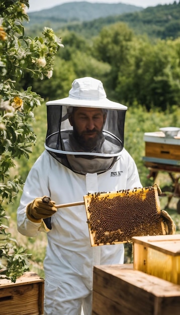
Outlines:
POLYGON ((49 101, 46 105, 127 110, 127 106, 108 100, 102 82, 88 76, 73 81, 68 97, 49 101))

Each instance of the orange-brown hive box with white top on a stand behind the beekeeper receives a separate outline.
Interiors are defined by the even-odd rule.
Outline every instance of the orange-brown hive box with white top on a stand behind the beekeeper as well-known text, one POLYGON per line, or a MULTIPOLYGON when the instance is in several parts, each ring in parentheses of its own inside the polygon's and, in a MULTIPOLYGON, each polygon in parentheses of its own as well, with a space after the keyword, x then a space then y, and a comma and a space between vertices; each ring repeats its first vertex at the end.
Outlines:
POLYGON ((145 132, 145 162, 180 165, 180 135, 166 137, 162 131, 145 132))

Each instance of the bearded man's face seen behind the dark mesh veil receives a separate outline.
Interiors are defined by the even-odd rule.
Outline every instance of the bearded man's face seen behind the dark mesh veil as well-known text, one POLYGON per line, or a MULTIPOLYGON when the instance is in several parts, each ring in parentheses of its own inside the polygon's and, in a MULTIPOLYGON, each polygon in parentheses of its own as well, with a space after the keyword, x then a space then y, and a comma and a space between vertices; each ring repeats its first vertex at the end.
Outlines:
POLYGON ((92 150, 102 135, 106 115, 102 109, 77 107, 69 122, 73 126, 74 136, 85 150, 92 150))

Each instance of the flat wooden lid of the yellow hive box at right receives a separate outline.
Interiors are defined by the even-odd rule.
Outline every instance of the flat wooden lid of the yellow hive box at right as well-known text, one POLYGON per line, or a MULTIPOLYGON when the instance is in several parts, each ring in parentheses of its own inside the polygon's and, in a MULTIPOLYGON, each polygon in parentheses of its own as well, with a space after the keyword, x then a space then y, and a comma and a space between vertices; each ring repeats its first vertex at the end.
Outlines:
POLYGON ((133 237, 132 242, 171 256, 180 256, 180 234, 133 237))

